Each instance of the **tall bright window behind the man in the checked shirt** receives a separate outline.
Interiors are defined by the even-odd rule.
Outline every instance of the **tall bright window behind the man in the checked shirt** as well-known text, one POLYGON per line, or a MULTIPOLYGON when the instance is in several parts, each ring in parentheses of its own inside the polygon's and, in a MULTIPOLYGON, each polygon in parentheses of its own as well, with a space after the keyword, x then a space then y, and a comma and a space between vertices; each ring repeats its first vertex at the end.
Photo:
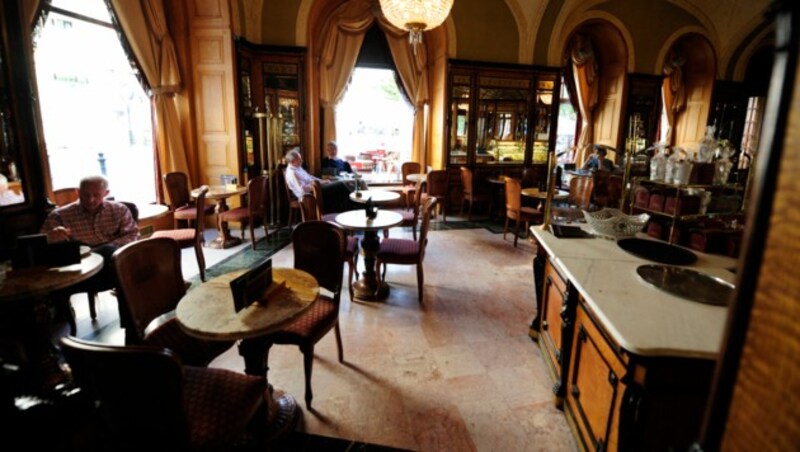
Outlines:
POLYGON ((53 189, 102 174, 117 200, 156 199, 150 100, 103 0, 53 0, 34 36, 53 189))

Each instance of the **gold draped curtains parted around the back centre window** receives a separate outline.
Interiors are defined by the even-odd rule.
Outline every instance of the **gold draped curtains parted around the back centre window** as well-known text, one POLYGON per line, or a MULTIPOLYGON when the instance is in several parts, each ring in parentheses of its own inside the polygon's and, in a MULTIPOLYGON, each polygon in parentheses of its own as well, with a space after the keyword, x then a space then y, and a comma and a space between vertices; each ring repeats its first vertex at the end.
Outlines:
POLYGON ((386 35, 403 88, 414 107, 412 159, 417 160, 424 147, 424 105, 428 101, 427 53, 420 46, 411 52, 407 34, 394 28, 368 1, 342 5, 330 18, 322 33, 319 62, 319 97, 323 110, 323 142, 336 139, 336 104, 341 100, 350 74, 361 50, 364 35, 375 20, 386 35))

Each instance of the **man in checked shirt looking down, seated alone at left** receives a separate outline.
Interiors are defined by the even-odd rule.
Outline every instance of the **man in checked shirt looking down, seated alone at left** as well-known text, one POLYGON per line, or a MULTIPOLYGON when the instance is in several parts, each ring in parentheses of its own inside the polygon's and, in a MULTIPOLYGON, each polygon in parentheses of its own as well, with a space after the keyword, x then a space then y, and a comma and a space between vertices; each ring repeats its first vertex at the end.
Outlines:
POLYGON ((89 287, 113 286, 111 255, 139 238, 139 228, 128 206, 108 201, 106 196, 105 177, 81 179, 78 201, 50 212, 41 229, 48 242, 75 241, 103 256, 103 270, 85 282, 89 287))

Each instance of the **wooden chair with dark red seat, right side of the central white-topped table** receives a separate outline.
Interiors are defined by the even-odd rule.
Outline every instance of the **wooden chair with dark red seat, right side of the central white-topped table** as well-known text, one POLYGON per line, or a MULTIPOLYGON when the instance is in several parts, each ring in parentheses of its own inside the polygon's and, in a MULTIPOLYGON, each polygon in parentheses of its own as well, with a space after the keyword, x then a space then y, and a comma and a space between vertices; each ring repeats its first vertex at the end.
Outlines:
POLYGON ((380 270, 383 266, 381 278, 386 280, 386 264, 416 265, 417 266, 417 297, 422 303, 422 294, 425 281, 425 272, 422 261, 425 259, 425 248, 428 246, 428 230, 431 224, 431 215, 436 208, 436 199, 428 198, 422 204, 422 226, 419 231, 419 240, 408 239, 383 239, 381 248, 375 257, 375 267, 380 270))

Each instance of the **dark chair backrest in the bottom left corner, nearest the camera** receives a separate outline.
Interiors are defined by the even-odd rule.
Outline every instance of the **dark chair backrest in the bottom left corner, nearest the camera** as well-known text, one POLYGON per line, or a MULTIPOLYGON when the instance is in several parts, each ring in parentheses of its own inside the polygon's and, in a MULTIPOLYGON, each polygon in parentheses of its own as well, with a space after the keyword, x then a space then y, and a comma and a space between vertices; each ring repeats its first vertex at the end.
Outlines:
POLYGON ((187 450, 180 361, 170 350, 61 339, 75 383, 95 401, 117 446, 187 450))

